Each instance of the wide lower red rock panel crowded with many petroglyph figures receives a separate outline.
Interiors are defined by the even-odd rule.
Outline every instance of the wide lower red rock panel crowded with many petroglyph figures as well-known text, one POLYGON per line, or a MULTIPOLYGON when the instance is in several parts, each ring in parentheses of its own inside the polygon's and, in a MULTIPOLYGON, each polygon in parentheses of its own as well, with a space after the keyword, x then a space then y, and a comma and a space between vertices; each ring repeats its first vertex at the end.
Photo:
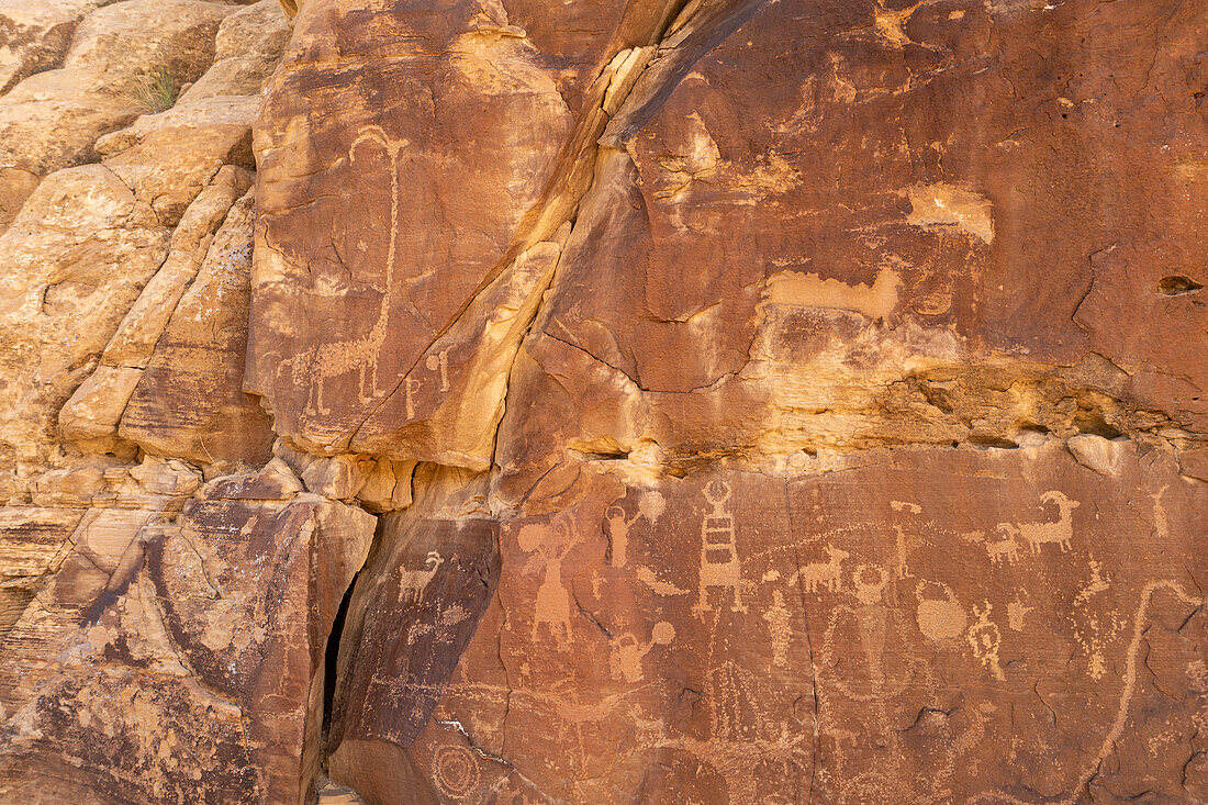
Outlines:
POLYGON ((1052 440, 840 469, 654 490, 585 468, 556 511, 530 498, 432 720, 397 742, 413 782, 442 801, 1032 803, 1178 780, 1119 748, 1189 746, 1208 707, 1186 562, 1204 535, 1152 505, 1208 500, 1171 458, 1126 448, 1117 480, 1052 440), (995 561, 1004 531, 1023 537, 995 561), (1163 693, 1175 677, 1186 695, 1163 693))

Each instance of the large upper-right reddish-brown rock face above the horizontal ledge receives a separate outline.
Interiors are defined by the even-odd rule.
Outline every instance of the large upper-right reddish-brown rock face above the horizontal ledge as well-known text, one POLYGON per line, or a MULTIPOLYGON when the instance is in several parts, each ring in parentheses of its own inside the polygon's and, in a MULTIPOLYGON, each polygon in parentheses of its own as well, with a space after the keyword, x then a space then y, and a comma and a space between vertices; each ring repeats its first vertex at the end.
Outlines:
POLYGON ((1195 280, 1172 291, 1203 284, 1186 262, 1202 175, 1179 167, 1202 120, 1174 89, 1195 11, 924 4, 890 35, 879 8, 748 7, 644 70, 516 361, 510 393, 567 415, 517 436, 524 461, 546 458, 527 482, 564 446, 604 442, 774 464, 1202 430, 1208 364, 1183 352, 1202 341, 1201 291, 1160 293, 1167 274, 1195 280), (1109 54, 1142 47, 1122 31, 1150 24, 1162 66, 1138 57, 1109 86, 1109 63, 1129 62, 1109 54), (1178 143, 1129 100, 1158 83, 1178 143), (1157 185, 1175 190, 1134 203, 1157 185), (1119 205, 1085 203, 1098 192, 1119 205), (1148 335, 1120 335, 1133 328, 1148 335))

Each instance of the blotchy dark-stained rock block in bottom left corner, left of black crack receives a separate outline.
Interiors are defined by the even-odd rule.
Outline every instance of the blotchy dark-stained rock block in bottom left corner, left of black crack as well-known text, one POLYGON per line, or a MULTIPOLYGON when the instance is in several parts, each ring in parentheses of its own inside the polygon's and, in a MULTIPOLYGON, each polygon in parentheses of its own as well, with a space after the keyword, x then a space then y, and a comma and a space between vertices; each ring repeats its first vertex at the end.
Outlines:
POLYGON ((0 793, 309 801, 327 633, 374 520, 269 468, 150 510, 120 496, 76 532, 5 638, 0 793), (151 514, 173 503, 176 522, 151 514))

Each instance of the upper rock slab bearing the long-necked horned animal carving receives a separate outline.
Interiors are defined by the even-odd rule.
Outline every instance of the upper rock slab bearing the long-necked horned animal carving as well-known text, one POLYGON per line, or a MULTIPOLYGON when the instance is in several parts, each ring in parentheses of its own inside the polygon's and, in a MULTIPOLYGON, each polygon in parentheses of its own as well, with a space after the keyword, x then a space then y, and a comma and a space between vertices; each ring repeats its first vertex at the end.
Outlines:
POLYGON ((304 450, 481 471, 591 181, 575 157, 637 75, 640 47, 620 51, 656 41, 669 11, 576 7, 592 23, 574 47, 561 12, 525 2, 368 11, 303 10, 260 118, 249 389, 304 450))

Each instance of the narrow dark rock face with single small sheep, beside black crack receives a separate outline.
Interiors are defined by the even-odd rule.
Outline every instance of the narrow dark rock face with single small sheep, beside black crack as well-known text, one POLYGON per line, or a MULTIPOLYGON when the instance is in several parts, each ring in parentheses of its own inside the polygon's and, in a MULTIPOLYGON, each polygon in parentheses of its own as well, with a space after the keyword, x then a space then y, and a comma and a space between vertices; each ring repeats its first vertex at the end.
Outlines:
POLYGON ((424 789, 402 747, 430 723, 490 603, 498 539, 492 520, 383 520, 341 638, 327 739, 335 781, 373 801, 424 789))

